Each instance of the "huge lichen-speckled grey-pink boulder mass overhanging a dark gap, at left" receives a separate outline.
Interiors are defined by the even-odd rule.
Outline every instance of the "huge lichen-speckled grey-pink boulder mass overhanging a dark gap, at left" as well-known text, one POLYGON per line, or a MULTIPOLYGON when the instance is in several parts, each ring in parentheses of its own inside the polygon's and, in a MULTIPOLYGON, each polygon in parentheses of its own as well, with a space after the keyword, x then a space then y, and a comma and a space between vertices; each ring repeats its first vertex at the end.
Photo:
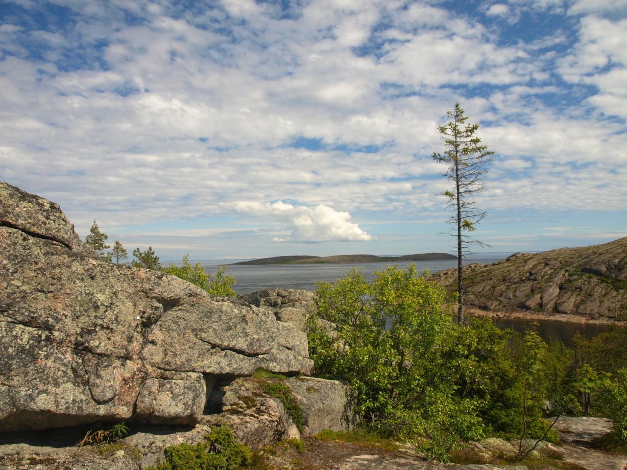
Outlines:
POLYGON ((195 424, 213 384, 308 373, 270 311, 98 258, 61 209, 0 182, 0 429, 195 424))

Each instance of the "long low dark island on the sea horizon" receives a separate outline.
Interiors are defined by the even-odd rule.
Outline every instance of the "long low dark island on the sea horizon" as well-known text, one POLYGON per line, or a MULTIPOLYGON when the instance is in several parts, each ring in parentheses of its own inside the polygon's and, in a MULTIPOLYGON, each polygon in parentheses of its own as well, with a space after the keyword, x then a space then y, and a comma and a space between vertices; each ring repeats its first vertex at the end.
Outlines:
POLYGON ((335 256, 273 256, 272 258, 240 261, 240 263, 229 264, 229 266, 243 266, 251 264, 388 263, 389 261, 436 261, 442 259, 457 259, 457 256, 448 253, 404 254, 403 256, 376 256, 374 254, 337 254, 335 256))

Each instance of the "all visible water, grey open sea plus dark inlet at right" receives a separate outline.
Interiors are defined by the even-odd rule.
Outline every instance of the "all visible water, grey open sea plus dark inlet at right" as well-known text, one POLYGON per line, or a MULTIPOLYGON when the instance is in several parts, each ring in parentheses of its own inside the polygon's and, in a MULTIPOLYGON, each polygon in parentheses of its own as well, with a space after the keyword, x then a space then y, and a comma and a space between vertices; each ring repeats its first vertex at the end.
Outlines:
MULTIPOLYGON (((500 261, 510 256, 512 253, 485 253, 469 256, 464 264, 481 263, 489 264, 500 261)), ((238 263, 246 261, 243 259, 210 259, 201 260, 209 273, 214 273, 218 266, 224 264, 238 263)), ((196 263, 196 261, 192 261, 196 263)), ((266 266, 228 266, 228 273, 237 279, 237 284, 233 286, 238 294, 258 291, 261 289, 302 289, 314 291, 315 283, 323 281, 334 283, 337 279, 343 278, 354 266, 364 268, 364 275, 372 279, 372 272, 381 270, 386 266, 398 264, 400 268, 405 268, 408 264, 416 264, 418 272, 428 269, 431 273, 436 273, 442 269, 456 268, 457 260, 446 261, 400 261, 399 263, 357 263, 357 264, 275 264, 266 266)), ((177 264, 177 263, 175 263, 177 264)), ((495 320, 499 328, 513 327, 517 331, 524 328, 523 320, 495 320)), ((606 325, 581 325, 577 323, 563 323, 559 321, 538 321, 536 327, 540 337, 544 340, 549 338, 559 339, 566 345, 571 345, 572 338, 579 332, 587 338, 592 338, 599 333, 606 332, 606 325)), ((527 325, 529 321, 527 321, 527 325)))

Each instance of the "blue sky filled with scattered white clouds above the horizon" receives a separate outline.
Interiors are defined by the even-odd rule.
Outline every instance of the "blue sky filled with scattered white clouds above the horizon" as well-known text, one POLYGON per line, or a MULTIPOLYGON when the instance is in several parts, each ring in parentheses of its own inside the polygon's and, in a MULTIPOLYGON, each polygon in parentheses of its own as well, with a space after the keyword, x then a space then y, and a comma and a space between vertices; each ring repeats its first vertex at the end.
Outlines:
POLYGON ((0 180, 129 255, 453 252, 456 102, 479 251, 627 236, 624 0, 0 2, 0 180))

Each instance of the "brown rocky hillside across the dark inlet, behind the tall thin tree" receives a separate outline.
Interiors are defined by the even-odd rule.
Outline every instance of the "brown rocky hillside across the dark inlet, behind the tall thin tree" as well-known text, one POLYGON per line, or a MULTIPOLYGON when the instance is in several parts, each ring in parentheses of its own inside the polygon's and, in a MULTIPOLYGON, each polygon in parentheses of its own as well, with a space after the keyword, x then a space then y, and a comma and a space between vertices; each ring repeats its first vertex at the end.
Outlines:
MULTIPOLYGON (((627 313, 627 238, 515 253, 486 266, 469 264, 464 273, 464 300, 471 308, 593 321, 614 321, 627 313)), ((446 269, 431 279, 453 291, 456 276, 456 269, 446 269)))

